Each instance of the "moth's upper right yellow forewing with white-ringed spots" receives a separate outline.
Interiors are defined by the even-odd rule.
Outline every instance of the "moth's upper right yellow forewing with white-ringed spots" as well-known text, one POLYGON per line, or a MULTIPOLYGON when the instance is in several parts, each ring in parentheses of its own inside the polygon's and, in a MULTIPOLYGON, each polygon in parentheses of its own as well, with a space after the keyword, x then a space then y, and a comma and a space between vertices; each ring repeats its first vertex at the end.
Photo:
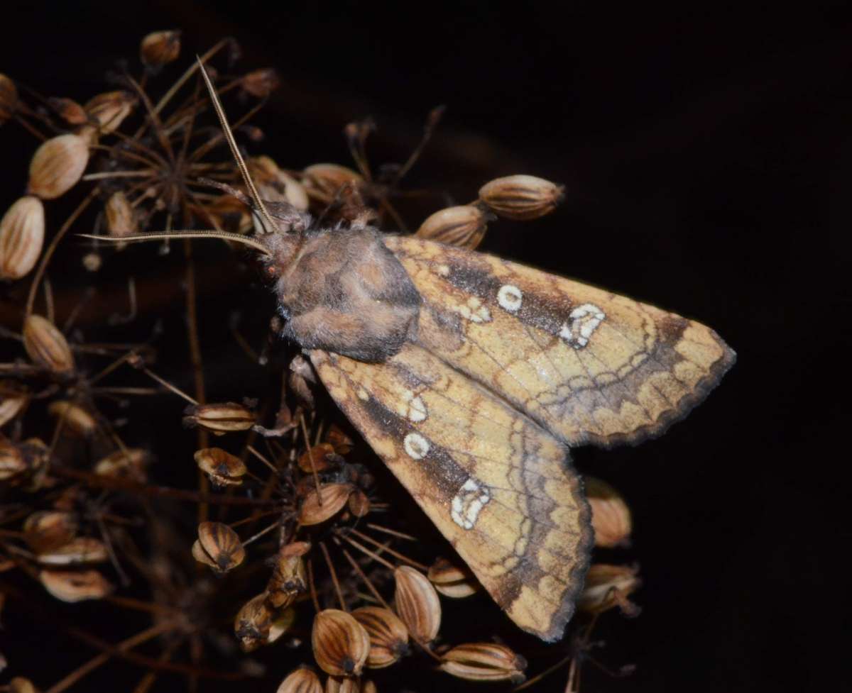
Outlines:
POLYGON ((423 296, 418 342, 569 445, 659 435, 734 363, 712 329, 625 296, 419 238, 385 243, 423 296))

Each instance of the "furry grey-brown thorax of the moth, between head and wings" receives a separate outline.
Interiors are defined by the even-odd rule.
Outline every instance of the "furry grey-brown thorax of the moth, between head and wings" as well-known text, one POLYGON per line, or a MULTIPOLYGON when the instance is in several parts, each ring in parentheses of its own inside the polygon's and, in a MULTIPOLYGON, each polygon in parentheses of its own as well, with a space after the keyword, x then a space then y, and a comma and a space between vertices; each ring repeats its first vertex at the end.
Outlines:
POLYGON ((417 337, 420 295, 371 226, 275 233, 267 242, 284 335, 302 348, 379 362, 417 337))

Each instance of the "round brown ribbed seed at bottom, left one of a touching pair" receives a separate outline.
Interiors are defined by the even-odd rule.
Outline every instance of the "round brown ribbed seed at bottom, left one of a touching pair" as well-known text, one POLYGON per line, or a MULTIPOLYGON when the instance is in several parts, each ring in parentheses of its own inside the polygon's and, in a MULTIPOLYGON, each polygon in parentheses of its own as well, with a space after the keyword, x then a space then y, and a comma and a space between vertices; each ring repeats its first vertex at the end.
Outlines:
POLYGON ((332 676, 358 676, 370 654, 370 638, 353 616, 325 609, 314 617, 314 659, 332 676))

